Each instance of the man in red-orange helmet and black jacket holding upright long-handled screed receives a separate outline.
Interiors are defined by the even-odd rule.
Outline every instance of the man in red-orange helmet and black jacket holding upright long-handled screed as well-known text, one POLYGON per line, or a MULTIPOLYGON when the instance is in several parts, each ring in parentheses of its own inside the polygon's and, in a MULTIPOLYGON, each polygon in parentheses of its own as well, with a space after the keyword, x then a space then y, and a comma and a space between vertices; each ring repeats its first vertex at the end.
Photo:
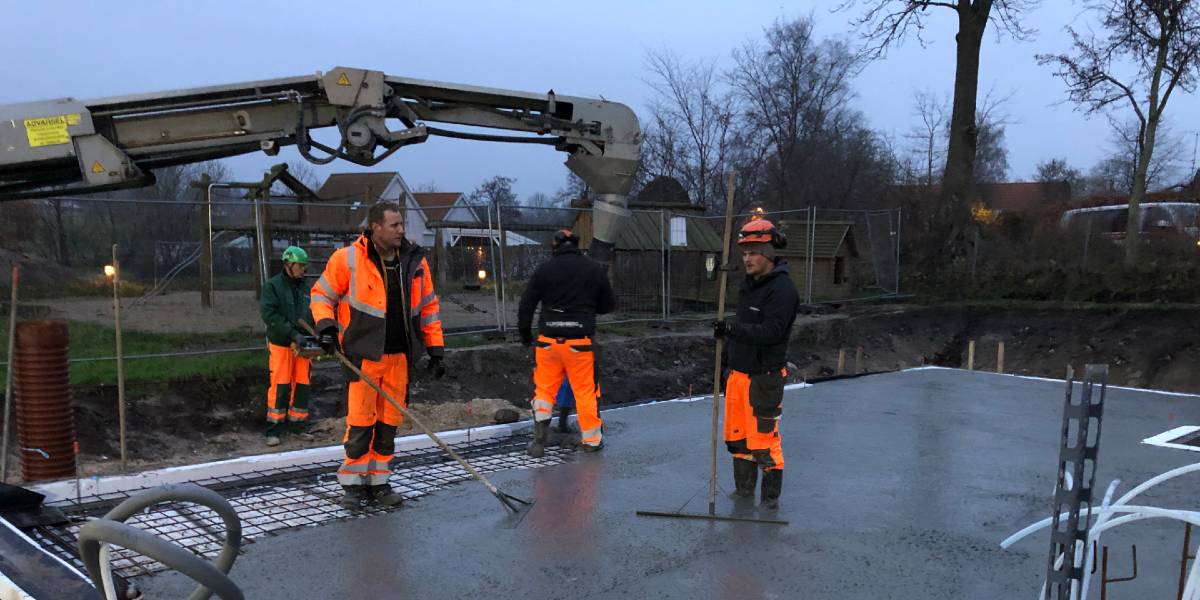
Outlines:
POLYGON ((728 342, 730 376, 725 382, 725 445, 733 455, 736 493, 754 498, 762 469, 761 499, 779 506, 784 485, 784 450, 779 438, 787 338, 800 305, 787 262, 776 252, 787 239, 764 218, 738 232, 742 281, 736 320, 716 320, 713 332, 728 342))

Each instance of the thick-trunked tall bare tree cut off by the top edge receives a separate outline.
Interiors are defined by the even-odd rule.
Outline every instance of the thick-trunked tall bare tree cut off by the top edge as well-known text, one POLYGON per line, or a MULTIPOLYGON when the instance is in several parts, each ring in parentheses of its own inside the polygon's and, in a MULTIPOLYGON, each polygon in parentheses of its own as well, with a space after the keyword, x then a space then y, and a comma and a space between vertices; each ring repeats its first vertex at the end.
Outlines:
MULTIPOLYGON (((846 0, 841 8, 859 4, 846 0)), ((976 120, 979 94, 979 49, 989 24, 997 34, 1008 32, 1016 40, 1026 40, 1033 31, 1021 24, 1022 13, 1036 7, 1040 0, 865 0, 868 6, 854 24, 865 30, 864 54, 878 58, 886 50, 914 35, 924 46, 926 19, 931 10, 953 11, 958 19, 954 36, 956 61, 954 72, 954 100, 950 109, 949 148, 946 152, 946 170, 942 174, 941 197, 953 218, 967 216, 966 204, 971 185, 976 181, 976 150, 979 128, 976 120)))

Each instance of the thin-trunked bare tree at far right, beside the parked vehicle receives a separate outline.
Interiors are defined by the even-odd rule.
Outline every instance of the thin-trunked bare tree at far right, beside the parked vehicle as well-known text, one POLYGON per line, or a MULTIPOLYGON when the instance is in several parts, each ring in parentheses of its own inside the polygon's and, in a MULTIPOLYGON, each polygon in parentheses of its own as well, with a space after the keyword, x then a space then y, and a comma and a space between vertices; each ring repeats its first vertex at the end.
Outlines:
POLYGON ((1176 89, 1193 91, 1200 58, 1200 7, 1193 0, 1105 0, 1088 6, 1105 30, 1081 34, 1067 28, 1072 54, 1042 54, 1038 61, 1057 67, 1068 97, 1086 113, 1116 107, 1133 112, 1136 162, 1126 224, 1126 264, 1138 263, 1140 204, 1146 194, 1156 136, 1176 89))

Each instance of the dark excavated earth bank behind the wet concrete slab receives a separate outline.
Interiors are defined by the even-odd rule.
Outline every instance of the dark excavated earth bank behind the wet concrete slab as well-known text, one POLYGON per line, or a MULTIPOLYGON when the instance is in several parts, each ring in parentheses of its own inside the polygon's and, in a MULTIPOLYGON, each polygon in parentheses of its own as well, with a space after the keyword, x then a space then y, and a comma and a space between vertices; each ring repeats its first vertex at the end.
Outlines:
MULTIPOLYGON (((965 367, 977 341, 976 368, 996 368, 1006 343, 1006 372, 1062 378, 1067 365, 1108 362, 1110 384, 1200 392, 1195 311, 1182 308, 992 310, 982 307, 875 306, 803 316, 791 343, 791 378, 835 374, 839 349, 846 371, 892 371, 920 365, 965 367)), ((713 342, 698 323, 648 328, 635 337, 601 336, 602 402, 617 404, 708 394, 713 342)), ((265 359, 264 359, 265 360, 265 359)), ((448 352, 448 374, 416 372, 414 409, 438 428, 492 421, 502 406, 528 409, 530 350, 493 344, 448 352), (486 398, 486 400, 480 400, 486 398)), ((314 368, 312 415, 317 439, 286 440, 278 449, 336 444, 342 433, 343 374, 314 368)), ((263 444, 263 372, 220 380, 180 380, 130 390, 128 449, 136 468, 184 464, 275 451, 263 444)), ((76 428, 85 473, 115 468, 116 398, 112 386, 77 388, 76 428)), ((13 458, 11 458, 13 460, 13 458)), ((12 463, 10 463, 12 464, 12 463)))

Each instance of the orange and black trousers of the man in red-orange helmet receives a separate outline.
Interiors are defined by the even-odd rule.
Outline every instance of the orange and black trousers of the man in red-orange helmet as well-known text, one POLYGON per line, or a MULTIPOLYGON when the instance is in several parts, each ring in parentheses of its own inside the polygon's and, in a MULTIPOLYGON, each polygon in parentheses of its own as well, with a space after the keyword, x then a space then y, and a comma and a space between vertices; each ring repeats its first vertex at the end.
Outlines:
POLYGON ((725 382, 725 446, 763 470, 784 468, 779 419, 784 412, 786 370, 761 374, 730 371, 725 382))

